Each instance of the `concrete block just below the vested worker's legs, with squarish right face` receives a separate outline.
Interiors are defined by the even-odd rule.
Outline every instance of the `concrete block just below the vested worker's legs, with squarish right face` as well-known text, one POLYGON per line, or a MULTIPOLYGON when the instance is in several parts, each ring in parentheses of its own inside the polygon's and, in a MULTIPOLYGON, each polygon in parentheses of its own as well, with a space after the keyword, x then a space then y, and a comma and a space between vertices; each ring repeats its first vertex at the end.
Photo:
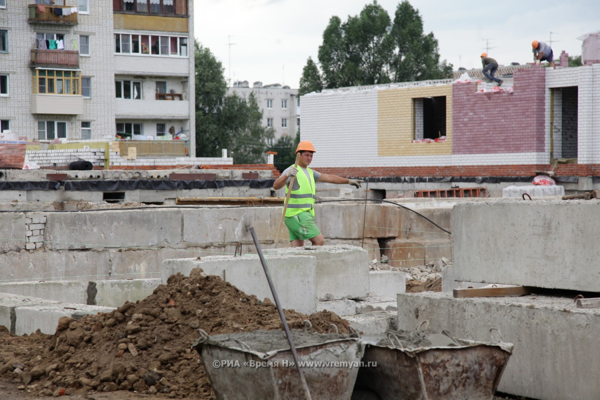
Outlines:
MULTIPOLYGON (((264 252, 264 251, 263 251, 264 252)), ((356 299, 369 291, 368 253, 349 245, 269 249, 268 254, 310 255, 317 259, 317 300, 356 299)))

